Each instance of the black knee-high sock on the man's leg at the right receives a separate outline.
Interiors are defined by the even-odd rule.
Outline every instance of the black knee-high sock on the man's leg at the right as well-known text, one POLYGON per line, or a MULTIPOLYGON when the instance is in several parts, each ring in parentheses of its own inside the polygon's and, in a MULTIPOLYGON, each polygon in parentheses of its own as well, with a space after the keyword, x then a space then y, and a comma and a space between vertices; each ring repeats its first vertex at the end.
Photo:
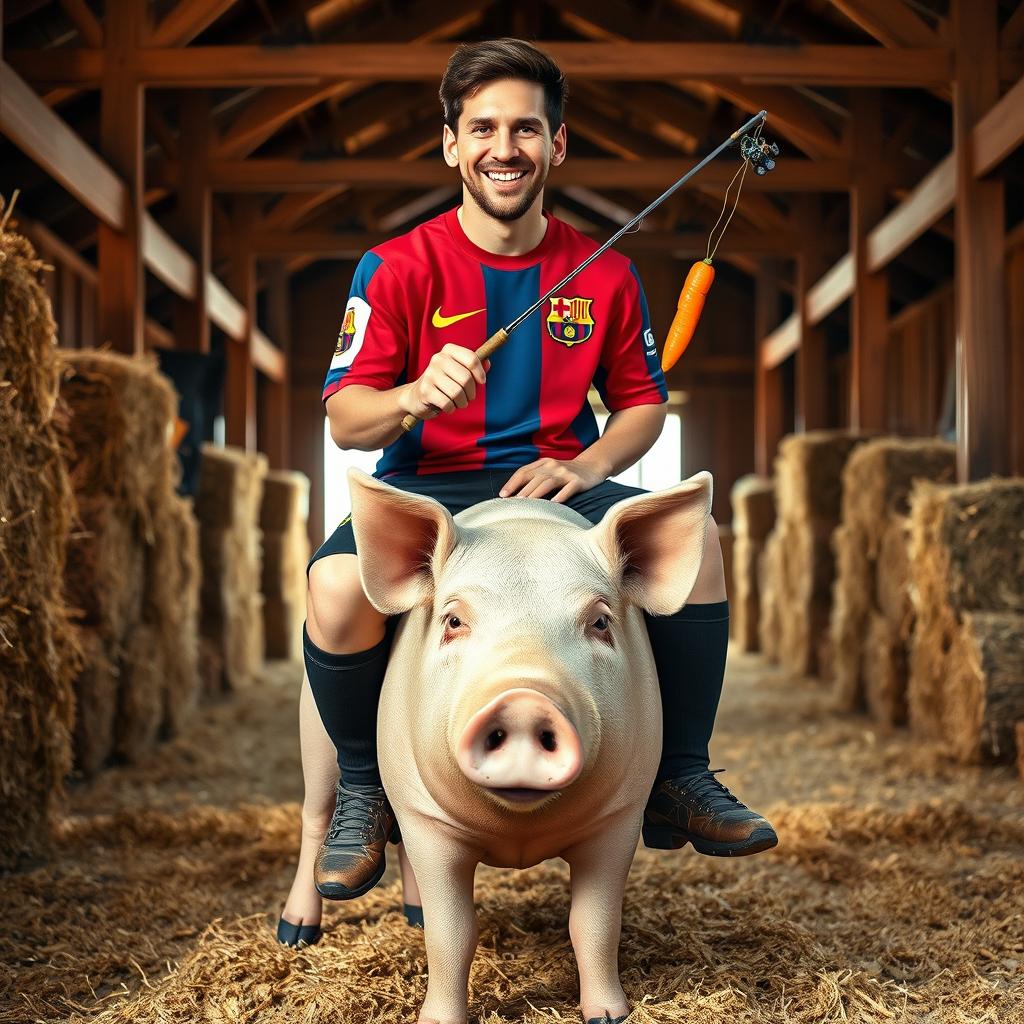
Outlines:
POLYGON ((687 604, 674 615, 644 618, 662 690, 657 781, 707 771, 729 647, 729 602, 687 604))

